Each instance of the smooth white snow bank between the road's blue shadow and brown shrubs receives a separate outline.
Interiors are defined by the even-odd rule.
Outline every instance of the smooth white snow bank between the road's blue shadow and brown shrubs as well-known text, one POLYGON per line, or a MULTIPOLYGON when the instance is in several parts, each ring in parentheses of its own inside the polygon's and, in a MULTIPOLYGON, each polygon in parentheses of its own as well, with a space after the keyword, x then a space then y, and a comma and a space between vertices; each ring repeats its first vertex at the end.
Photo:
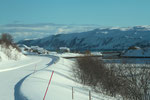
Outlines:
MULTIPOLYGON (((22 94, 29 100, 42 100, 52 71, 54 71, 45 100, 72 100, 72 87, 74 88, 74 100, 88 100, 90 89, 74 81, 73 65, 74 61, 60 58, 56 64, 30 75, 22 84, 22 94)), ((115 100, 92 92, 93 99, 115 100)))

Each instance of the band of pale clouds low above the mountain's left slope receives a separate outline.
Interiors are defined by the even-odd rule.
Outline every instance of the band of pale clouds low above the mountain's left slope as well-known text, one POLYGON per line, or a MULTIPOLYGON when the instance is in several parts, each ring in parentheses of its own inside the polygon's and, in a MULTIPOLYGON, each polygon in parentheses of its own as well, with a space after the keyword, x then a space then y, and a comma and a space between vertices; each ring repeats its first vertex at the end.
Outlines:
POLYGON ((7 24, 0 25, 1 33, 10 33, 15 41, 23 39, 43 38, 54 34, 84 32, 100 27, 99 25, 67 25, 67 24, 7 24))

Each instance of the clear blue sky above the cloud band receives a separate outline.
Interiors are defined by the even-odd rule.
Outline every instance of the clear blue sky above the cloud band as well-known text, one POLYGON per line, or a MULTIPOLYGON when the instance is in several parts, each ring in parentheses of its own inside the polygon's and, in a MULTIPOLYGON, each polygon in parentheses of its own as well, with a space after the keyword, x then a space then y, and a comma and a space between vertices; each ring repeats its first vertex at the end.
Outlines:
POLYGON ((150 25, 150 0, 0 0, 0 24, 150 25))

